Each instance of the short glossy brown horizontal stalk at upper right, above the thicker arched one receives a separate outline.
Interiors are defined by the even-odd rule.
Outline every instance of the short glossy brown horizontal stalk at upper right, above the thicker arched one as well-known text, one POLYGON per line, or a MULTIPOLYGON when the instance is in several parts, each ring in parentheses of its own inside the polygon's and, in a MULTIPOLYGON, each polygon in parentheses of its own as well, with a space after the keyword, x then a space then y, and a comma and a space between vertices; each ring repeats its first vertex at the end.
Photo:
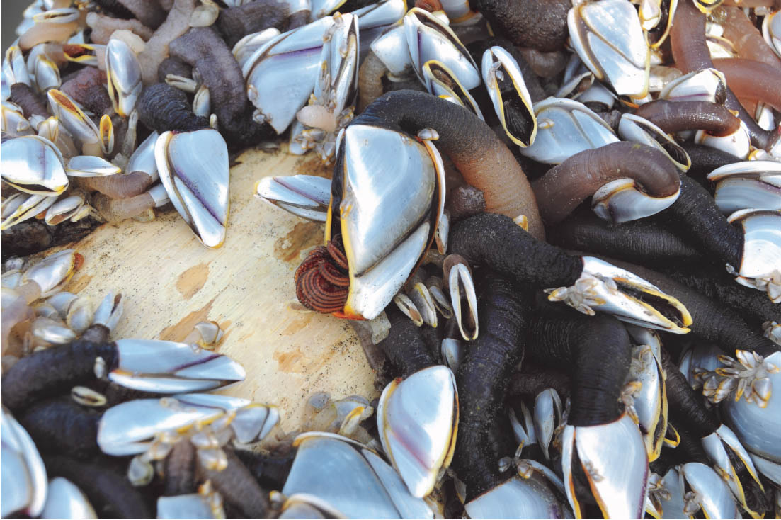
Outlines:
POLYGON ((729 135, 740 127, 740 119, 723 106, 707 101, 665 101, 657 99, 640 105, 635 115, 644 117, 672 134, 704 130, 713 135, 729 135))

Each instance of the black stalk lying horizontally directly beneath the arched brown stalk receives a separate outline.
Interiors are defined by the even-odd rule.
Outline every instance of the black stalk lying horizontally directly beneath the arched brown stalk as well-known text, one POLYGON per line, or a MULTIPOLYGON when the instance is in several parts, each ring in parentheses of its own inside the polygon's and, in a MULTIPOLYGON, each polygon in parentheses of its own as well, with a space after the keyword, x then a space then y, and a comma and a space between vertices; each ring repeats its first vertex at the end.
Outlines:
POLYGON ((562 249, 601 253, 639 264, 703 260, 697 249, 668 228, 647 219, 616 225, 586 208, 576 210, 555 227, 547 228, 547 237, 551 244, 562 249))

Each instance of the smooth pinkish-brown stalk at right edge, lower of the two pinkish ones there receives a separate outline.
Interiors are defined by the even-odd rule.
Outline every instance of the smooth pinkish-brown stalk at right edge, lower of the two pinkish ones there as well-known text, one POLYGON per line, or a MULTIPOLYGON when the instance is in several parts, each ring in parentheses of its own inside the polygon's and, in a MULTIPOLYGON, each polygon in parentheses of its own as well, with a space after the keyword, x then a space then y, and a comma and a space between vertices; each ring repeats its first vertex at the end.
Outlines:
POLYGON ((738 98, 757 99, 781 110, 781 66, 742 58, 714 59, 713 65, 738 98))

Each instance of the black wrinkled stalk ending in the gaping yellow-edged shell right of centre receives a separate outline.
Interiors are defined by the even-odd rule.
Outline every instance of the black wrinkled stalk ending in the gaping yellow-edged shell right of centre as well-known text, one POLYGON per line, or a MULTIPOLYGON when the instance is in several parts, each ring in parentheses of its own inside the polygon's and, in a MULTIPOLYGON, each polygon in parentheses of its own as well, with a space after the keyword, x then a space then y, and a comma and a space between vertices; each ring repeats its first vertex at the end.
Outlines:
POLYGON ((504 215, 480 213, 456 223, 450 233, 450 253, 517 283, 561 287, 575 283, 583 271, 580 258, 538 241, 504 215))

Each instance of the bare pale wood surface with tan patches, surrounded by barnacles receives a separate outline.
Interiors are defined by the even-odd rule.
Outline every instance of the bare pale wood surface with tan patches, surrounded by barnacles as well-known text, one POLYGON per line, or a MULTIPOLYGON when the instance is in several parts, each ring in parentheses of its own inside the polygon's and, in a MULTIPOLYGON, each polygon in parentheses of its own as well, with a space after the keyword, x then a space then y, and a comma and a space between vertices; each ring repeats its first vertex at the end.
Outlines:
POLYGON ((312 154, 251 150, 230 170, 230 218, 219 249, 198 242, 175 210, 155 221, 104 224, 72 245, 84 266, 66 287, 97 304, 106 291, 124 296, 112 335, 180 341, 198 321, 226 332, 217 349, 238 360, 247 379, 222 392, 280 407, 286 432, 301 425, 305 400, 377 396, 374 374, 347 321, 293 310, 300 255, 323 241, 323 225, 303 221, 255 198, 267 175, 330 176, 312 154))

